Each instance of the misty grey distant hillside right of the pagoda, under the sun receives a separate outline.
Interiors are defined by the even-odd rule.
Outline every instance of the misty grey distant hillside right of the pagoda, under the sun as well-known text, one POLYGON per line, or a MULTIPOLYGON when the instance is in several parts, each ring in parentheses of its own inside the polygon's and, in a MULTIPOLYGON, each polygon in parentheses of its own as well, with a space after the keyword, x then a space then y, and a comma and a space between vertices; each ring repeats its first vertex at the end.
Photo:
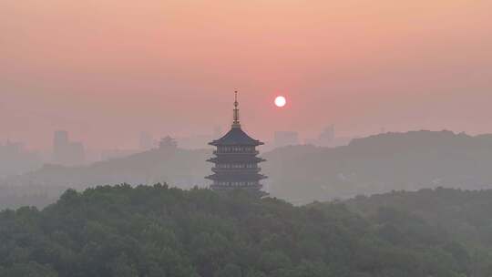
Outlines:
POLYGON ((288 147, 264 156, 272 195, 299 203, 438 186, 492 188, 491 135, 387 133, 334 149, 288 147))

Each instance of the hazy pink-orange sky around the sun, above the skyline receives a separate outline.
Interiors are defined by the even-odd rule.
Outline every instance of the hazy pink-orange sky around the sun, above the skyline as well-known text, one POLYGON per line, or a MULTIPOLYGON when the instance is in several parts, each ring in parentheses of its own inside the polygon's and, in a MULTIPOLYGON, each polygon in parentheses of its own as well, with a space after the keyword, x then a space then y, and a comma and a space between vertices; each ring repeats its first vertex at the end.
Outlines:
POLYGON ((329 123, 492 132, 492 1, 0 1, 0 141, 210 133, 235 88, 263 140, 329 123))

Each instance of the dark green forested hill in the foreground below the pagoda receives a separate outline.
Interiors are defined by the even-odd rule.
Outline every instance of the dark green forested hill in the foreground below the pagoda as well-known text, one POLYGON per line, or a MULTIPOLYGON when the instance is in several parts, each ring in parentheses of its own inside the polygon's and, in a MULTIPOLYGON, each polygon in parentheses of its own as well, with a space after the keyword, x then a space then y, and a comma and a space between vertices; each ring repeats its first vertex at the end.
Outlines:
POLYGON ((419 228, 398 241, 391 224, 341 204, 162 185, 67 190, 45 210, 0 213, 0 276, 471 276, 446 232, 402 221, 419 228))

